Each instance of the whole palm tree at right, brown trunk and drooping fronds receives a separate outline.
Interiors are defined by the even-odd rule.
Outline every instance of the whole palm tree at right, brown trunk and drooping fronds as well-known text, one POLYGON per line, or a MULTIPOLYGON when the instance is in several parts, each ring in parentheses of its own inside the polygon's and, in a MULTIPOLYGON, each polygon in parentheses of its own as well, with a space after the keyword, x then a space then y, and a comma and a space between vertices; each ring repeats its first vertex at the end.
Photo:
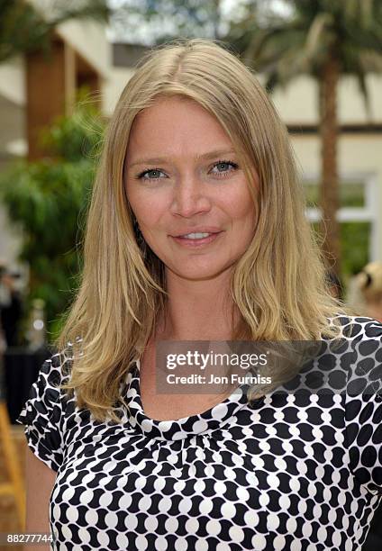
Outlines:
POLYGON ((269 91, 300 75, 318 84, 323 252, 340 276, 337 89, 342 75, 357 77, 369 113, 366 76, 382 72, 382 3, 286 0, 284 5, 289 13, 277 14, 269 3, 252 0, 246 21, 233 25, 227 38, 247 64, 266 74, 269 91))

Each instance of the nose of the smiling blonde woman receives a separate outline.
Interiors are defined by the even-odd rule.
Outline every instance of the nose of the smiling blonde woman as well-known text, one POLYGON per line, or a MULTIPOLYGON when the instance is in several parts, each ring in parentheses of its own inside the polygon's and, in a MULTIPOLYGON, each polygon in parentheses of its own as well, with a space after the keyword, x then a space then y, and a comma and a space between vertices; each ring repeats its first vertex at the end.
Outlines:
POLYGON ((181 177, 174 186, 171 212, 178 216, 190 218, 201 212, 211 210, 211 198, 207 195, 205 185, 196 176, 181 177))

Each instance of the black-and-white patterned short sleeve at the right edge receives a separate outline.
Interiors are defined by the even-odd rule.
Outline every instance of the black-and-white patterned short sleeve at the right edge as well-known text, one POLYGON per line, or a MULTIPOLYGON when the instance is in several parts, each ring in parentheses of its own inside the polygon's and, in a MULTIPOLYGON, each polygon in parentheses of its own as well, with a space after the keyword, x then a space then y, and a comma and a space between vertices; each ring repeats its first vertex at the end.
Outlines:
POLYGON ((351 473, 382 495, 382 323, 370 319, 363 330, 345 393, 346 442, 351 473))

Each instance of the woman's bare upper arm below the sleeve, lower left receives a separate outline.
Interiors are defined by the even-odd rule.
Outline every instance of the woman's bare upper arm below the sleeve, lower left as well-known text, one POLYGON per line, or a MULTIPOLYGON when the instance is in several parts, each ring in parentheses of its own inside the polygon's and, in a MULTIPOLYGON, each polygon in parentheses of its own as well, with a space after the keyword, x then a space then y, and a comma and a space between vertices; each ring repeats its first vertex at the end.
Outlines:
MULTIPOLYGON (((49 501, 57 473, 34 455, 30 447, 25 449, 26 519, 27 534, 49 533, 49 501)), ((42 546, 24 546, 25 550, 47 551, 42 546)))

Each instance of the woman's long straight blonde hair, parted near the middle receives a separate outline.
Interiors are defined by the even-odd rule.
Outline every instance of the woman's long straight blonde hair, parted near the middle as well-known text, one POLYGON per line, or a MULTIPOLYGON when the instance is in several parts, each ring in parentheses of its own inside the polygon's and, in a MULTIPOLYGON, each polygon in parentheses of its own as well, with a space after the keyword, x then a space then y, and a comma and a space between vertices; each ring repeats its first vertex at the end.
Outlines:
POLYGON ((253 168, 259 175, 254 238, 232 271, 232 303, 241 313, 232 340, 341 335, 340 323, 328 318, 345 309, 329 293, 286 126, 268 95, 219 41, 169 42, 141 59, 109 122, 86 221, 81 284, 56 341, 59 350, 73 347, 71 377, 62 388, 75 391, 78 407, 97 420, 118 421, 120 384, 166 308, 164 266, 137 239, 123 165, 135 116, 171 95, 205 107, 238 144, 253 200, 253 168))

